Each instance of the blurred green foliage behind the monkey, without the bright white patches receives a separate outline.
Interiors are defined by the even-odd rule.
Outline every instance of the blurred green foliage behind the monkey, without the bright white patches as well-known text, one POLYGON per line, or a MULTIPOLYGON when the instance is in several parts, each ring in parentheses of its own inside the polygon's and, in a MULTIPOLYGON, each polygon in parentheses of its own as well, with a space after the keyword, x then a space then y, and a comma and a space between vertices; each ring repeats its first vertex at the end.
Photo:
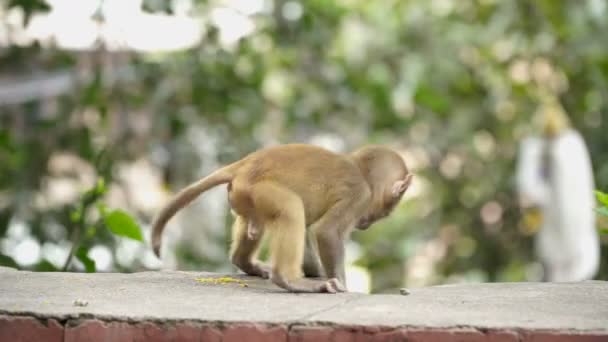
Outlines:
MULTIPOLYGON (((40 244, 75 242, 74 256, 91 271, 90 248, 116 256, 117 237, 141 241, 137 222, 151 219, 135 205, 105 208, 110 188, 129 198, 116 177, 121 167, 150 161, 175 190, 209 160, 227 163, 318 133, 341 138, 346 149, 402 147, 420 181, 394 215, 353 234, 355 263, 369 269, 374 290, 523 280, 536 259, 513 169, 521 137, 537 129, 541 86, 559 96, 589 146, 598 187, 608 187, 608 14, 600 2, 301 1, 295 20, 282 15, 285 3, 251 16, 255 30, 233 46, 209 20, 214 4, 195 1, 206 36, 185 51, 82 54, 36 43, 0 51, 0 72, 78 67, 92 76, 54 100, 0 106, 0 238, 19 219, 40 244), (114 65, 131 77, 108 77, 114 65), (198 131, 211 133, 192 139, 198 131), (79 158, 104 181, 70 203, 38 206, 57 177, 49 163, 58 153, 79 158), (428 272, 418 279, 414 269, 428 272)), ((9 6, 32 13, 39 4, 9 6)), ((176 8, 155 0, 143 6, 176 8)), ((209 241, 222 250, 225 236, 209 241)), ((178 246, 180 266, 223 270, 228 263, 226 255, 195 252, 178 246)), ((608 254, 602 257, 599 279, 608 276, 608 254)), ((121 271, 146 267, 137 258, 114 261, 121 271)), ((19 266, 52 269, 44 258, 19 266)))

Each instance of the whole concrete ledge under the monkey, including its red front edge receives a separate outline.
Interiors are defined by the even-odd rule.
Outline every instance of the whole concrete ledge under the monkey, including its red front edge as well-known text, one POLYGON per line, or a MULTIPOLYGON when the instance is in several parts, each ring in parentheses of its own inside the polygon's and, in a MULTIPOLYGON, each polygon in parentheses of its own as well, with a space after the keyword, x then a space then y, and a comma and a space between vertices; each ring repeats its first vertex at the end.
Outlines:
POLYGON ((246 287, 198 272, 0 269, 0 341, 608 341, 601 281, 296 295, 231 276, 246 287))

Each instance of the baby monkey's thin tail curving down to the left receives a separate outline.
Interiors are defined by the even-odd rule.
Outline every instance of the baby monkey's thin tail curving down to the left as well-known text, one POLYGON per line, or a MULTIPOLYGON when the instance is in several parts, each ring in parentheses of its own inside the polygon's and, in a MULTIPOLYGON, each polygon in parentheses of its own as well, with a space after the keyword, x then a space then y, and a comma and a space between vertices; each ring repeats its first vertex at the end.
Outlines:
POLYGON ((218 186, 228 183, 234 178, 234 172, 238 167, 238 162, 227 165, 214 171, 203 179, 188 185, 175 195, 171 201, 160 211, 152 225, 152 249, 157 257, 160 257, 160 244, 165 225, 175 213, 190 204, 201 193, 218 186))

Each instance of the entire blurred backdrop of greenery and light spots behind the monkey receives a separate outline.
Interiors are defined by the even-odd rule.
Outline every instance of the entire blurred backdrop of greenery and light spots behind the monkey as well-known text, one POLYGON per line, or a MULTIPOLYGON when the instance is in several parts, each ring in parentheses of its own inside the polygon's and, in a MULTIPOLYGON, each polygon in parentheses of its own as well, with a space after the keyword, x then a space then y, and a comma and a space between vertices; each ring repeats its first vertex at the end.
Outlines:
POLYGON ((149 224, 171 194, 272 144, 381 143, 415 183, 353 234, 351 287, 536 281, 514 173, 539 88, 608 189, 603 0, 2 1, 0 264, 233 271, 223 188, 175 217, 154 257, 149 224), (112 234, 114 209, 143 241, 112 234))

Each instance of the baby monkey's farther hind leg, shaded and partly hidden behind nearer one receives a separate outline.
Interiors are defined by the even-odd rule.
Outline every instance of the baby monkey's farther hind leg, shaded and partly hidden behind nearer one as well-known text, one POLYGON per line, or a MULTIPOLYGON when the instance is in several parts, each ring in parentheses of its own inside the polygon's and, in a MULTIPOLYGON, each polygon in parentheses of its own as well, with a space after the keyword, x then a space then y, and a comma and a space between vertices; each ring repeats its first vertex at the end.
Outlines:
POLYGON ((268 267, 256 260, 263 232, 254 238, 248 236, 248 223, 246 219, 237 215, 232 226, 232 246, 230 247, 230 260, 248 275, 268 279, 268 267))

